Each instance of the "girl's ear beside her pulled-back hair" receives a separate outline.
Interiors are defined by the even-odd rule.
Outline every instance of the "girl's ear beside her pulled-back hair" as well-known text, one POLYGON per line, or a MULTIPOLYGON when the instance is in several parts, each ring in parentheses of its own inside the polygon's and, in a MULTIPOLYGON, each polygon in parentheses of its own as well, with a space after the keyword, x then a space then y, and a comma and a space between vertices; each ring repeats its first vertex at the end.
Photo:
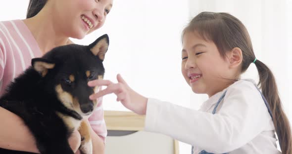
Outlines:
POLYGON ((241 65, 243 61, 243 52, 239 47, 233 48, 230 53, 228 53, 228 60, 230 62, 230 68, 236 68, 241 65))

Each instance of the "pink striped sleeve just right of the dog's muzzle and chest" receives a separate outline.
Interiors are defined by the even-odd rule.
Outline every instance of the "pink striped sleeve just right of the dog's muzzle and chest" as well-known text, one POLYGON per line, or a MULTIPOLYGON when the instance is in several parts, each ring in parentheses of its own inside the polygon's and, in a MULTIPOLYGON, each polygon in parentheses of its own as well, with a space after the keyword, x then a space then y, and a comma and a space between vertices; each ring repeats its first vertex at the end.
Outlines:
MULTIPOLYGON (((101 88, 99 88, 101 90, 101 88)), ((97 108, 93 112, 93 114, 88 118, 89 123, 93 130, 97 133, 97 135, 103 140, 105 143, 105 138, 107 135, 106 125, 103 118, 103 107, 102 107, 102 97, 97 99, 97 108)))

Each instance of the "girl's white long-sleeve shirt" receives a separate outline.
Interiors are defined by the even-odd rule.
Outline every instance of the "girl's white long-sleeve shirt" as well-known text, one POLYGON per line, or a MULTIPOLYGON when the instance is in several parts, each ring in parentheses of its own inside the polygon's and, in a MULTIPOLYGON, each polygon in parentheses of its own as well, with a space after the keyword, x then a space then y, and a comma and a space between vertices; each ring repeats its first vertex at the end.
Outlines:
POLYGON ((145 130, 193 145, 194 154, 202 150, 214 154, 281 154, 268 109, 255 84, 247 80, 216 93, 198 111, 150 98, 145 130))

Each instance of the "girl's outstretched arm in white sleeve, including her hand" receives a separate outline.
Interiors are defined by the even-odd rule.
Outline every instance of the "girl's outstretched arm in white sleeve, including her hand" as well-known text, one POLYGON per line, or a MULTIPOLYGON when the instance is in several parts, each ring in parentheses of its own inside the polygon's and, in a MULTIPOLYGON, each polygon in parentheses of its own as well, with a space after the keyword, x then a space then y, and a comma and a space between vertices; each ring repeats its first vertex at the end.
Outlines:
POLYGON ((238 149, 272 123, 260 93, 251 82, 231 85, 222 108, 212 115, 147 99, 131 89, 120 75, 117 80, 118 83, 99 79, 90 81, 89 86, 107 86, 90 99, 114 93, 117 101, 121 101, 127 109, 140 115, 146 114, 146 131, 171 136, 208 152, 222 154, 238 149))

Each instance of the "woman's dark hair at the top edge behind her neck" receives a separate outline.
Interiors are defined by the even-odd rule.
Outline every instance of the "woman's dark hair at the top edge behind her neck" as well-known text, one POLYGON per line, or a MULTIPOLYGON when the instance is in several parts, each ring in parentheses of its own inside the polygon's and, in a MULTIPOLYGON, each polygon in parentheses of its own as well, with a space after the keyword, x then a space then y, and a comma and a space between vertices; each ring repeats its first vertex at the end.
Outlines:
POLYGON ((45 6, 48 0, 29 0, 26 18, 31 18, 37 15, 45 6))

